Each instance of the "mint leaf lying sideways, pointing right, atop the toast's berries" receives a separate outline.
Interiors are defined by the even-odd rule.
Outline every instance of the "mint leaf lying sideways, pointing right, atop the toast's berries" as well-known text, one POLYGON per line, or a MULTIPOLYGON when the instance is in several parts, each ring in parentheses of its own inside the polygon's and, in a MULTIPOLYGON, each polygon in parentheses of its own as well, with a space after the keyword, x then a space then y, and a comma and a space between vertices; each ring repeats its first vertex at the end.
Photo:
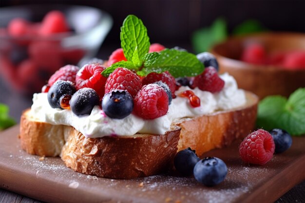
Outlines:
POLYGON ((175 49, 165 49, 154 63, 144 67, 137 74, 147 75, 152 72, 169 71, 174 77, 196 76, 204 70, 203 64, 196 55, 175 49))

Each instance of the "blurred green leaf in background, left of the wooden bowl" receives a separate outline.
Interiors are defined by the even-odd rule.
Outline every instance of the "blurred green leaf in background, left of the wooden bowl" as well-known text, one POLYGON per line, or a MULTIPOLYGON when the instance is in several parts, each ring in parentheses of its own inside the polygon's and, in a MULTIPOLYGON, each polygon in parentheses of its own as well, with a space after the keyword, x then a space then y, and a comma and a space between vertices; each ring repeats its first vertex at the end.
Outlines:
POLYGON ((192 34, 191 41, 196 53, 210 51, 211 47, 227 38, 227 24, 223 18, 217 18, 210 27, 192 34))

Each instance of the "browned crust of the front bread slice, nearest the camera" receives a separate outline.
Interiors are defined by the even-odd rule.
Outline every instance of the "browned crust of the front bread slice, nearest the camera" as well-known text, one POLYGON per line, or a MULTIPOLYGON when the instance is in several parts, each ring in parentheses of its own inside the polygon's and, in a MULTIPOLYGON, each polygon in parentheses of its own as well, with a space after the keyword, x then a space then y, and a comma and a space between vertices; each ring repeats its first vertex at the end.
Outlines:
POLYGON ((71 132, 61 159, 75 171, 114 179, 155 175, 172 164, 177 152, 179 127, 165 135, 85 138, 71 132))

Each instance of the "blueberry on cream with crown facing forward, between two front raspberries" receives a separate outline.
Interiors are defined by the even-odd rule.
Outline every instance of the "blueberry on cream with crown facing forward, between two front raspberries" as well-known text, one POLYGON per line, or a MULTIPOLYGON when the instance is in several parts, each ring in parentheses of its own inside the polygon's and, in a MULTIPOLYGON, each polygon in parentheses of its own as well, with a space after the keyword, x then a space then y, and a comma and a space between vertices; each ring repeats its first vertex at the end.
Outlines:
POLYGON ((125 90, 108 92, 103 97, 102 109, 110 118, 125 118, 133 111, 133 97, 125 90))

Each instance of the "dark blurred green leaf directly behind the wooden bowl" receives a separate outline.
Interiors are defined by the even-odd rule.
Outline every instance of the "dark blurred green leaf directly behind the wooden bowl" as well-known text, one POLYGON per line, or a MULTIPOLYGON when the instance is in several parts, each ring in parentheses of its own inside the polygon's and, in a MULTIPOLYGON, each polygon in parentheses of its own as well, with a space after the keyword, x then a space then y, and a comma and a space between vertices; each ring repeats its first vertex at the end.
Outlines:
POLYGON ((258 33, 266 31, 267 29, 257 20, 248 19, 237 25, 234 30, 234 35, 245 35, 250 33, 258 33))

